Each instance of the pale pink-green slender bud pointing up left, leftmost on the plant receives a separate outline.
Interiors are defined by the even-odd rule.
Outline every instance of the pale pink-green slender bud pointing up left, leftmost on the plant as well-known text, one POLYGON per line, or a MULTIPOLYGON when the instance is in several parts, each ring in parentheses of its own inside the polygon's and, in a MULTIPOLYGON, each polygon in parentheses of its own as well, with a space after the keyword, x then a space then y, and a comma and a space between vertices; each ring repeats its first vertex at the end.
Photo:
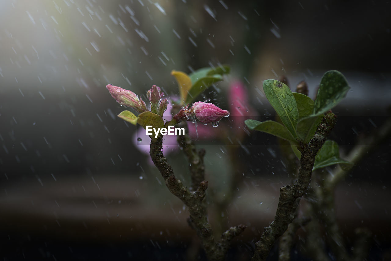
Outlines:
POLYGON ((139 113, 147 111, 147 106, 145 106, 145 103, 142 101, 142 99, 139 99, 138 95, 136 95, 134 92, 111 84, 106 85, 106 88, 109 90, 111 97, 113 97, 119 104, 131 107, 139 113))

